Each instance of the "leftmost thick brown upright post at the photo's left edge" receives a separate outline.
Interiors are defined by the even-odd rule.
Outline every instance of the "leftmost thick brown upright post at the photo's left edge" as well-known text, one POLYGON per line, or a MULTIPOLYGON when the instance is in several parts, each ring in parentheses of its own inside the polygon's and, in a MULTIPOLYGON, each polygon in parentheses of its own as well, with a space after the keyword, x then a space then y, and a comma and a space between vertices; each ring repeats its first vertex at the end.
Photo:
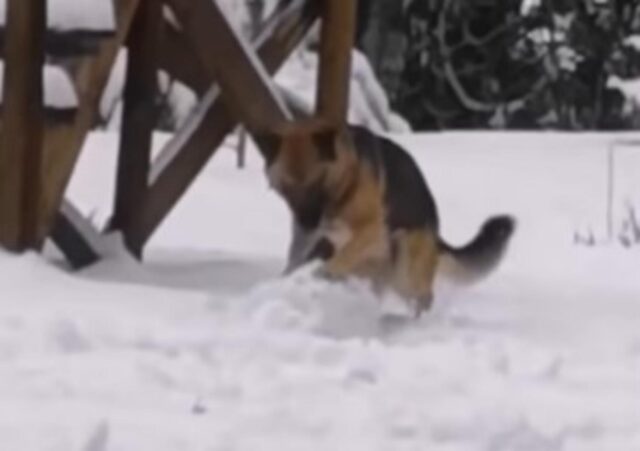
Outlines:
POLYGON ((3 130, 0 145, 0 244, 39 247, 46 0, 8 0, 3 130))

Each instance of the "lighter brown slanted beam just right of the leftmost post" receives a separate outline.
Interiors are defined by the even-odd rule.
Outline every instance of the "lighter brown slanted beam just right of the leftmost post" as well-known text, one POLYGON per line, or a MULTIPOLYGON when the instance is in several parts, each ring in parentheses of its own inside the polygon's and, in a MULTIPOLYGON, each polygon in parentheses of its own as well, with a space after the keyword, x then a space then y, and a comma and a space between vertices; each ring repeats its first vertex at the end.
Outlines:
POLYGON ((44 220, 39 231, 41 240, 49 234, 53 225, 85 137, 95 123, 96 111, 111 68, 129 32, 140 0, 113 1, 117 23, 114 37, 102 42, 95 56, 84 58, 74 74, 80 99, 75 122, 68 127, 48 130, 45 142, 44 220))

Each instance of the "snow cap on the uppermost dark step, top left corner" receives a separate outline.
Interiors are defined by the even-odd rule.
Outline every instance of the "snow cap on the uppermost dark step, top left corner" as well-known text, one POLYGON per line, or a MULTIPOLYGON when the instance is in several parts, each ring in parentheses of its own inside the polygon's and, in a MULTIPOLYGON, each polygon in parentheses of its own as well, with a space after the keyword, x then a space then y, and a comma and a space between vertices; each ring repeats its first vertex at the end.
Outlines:
MULTIPOLYGON (((5 26, 7 0, 0 0, 5 26)), ((109 31, 115 28, 112 0, 47 0, 47 26, 58 31, 109 31)))

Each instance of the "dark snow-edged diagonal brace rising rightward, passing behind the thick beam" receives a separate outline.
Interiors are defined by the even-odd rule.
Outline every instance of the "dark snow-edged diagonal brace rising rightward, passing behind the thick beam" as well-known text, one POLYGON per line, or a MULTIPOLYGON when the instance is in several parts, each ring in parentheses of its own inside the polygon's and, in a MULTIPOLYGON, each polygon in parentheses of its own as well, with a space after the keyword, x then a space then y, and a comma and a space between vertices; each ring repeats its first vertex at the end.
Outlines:
MULTIPOLYGON (((278 70, 317 16, 315 0, 293 0, 266 21, 253 45, 269 74, 278 70)), ((209 88, 196 116, 152 165, 149 195, 136 219, 135 234, 140 243, 149 239, 236 125, 218 88, 209 88)))

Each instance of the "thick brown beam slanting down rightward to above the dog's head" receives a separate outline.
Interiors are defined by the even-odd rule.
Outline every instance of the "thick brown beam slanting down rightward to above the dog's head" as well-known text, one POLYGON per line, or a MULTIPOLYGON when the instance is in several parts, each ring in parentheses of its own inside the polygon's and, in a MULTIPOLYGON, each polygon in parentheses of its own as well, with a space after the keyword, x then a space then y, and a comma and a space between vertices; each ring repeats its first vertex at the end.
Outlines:
POLYGON ((183 32, 227 107, 250 130, 271 130, 289 119, 260 61, 211 0, 170 0, 183 32))

